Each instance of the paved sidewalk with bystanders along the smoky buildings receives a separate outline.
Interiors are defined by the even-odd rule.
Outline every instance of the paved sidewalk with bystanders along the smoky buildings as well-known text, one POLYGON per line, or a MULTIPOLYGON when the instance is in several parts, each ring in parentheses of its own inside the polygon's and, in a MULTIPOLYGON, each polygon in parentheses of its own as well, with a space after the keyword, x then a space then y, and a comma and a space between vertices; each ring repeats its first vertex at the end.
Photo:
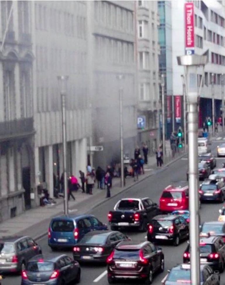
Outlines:
MULTIPOLYGON (((164 167, 167 167, 180 157, 181 156, 174 158, 169 163, 164 165, 164 167)), ((120 178, 113 178, 111 198, 117 196, 122 191, 129 189, 134 184, 137 184, 147 177, 153 175, 157 169, 155 156, 148 158, 148 164, 145 165, 144 169, 145 174, 140 175, 137 182, 134 182, 132 177, 127 177, 126 186, 123 188, 120 187, 120 178)), ((97 189, 96 185, 93 189, 93 195, 82 193, 80 190, 74 195, 76 200, 69 201, 69 213, 71 214, 76 212, 86 213, 99 204, 104 203, 104 201, 110 199, 105 198, 106 190, 97 189)), ((40 239, 47 233, 51 218, 56 215, 63 214, 63 198, 57 198, 55 200, 57 202, 56 205, 30 209, 19 216, 2 222, 0 224, 0 237, 11 235, 29 235, 34 239, 40 239)))

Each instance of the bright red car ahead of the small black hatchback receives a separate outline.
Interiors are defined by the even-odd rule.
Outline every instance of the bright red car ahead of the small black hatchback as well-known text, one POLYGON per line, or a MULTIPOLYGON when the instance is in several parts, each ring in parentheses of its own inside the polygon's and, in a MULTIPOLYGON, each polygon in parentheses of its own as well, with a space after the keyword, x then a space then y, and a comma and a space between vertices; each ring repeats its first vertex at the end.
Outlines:
POLYGON ((162 212, 188 210, 188 186, 167 186, 160 197, 159 207, 162 212))

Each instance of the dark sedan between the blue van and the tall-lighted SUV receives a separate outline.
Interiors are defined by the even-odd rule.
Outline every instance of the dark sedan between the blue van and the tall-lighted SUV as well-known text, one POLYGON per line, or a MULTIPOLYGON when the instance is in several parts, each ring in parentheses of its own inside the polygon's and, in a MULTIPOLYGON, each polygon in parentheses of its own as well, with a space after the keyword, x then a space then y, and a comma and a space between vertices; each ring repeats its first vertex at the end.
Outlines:
POLYGON ((73 248, 73 258, 79 262, 106 262, 120 241, 130 241, 117 231, 93 231, 86 234, 73 248))

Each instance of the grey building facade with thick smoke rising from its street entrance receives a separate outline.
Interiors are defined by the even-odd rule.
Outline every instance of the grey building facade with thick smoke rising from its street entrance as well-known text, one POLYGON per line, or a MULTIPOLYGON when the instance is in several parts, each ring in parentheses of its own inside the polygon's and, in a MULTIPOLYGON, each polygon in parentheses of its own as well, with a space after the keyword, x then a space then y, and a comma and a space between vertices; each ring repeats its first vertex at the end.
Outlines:
POLYGON ((123 92, 124 153, 133 157, 137 135, 135 1, 87 1, 89 92, 94 165, 120 162, 119 89, 123 92), (118 75, 123 75, 119 80, 118 75))

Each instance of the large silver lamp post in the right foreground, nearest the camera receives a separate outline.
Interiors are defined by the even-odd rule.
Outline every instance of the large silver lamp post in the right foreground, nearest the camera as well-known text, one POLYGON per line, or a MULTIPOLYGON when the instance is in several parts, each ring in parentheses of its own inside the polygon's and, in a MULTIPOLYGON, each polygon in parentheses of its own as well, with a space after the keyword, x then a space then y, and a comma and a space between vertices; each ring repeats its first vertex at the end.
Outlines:
MULTIPOLYGON (((188 172, 189 172, 189 211, 190 211, 190 260, 191 284, 200 285, 199 255, 199 197, 198 197, 198 94, 202 86, 201 77, 198 90, 198 69, 204 69, 206 56, 186 55, 177 57, 178 65, 185 68, 185 81, 188 102, 188 172)), ((203 72, 203 70, 202 70, 203 72)), ((204 74, 204 73, 203 73, 204 74)))

